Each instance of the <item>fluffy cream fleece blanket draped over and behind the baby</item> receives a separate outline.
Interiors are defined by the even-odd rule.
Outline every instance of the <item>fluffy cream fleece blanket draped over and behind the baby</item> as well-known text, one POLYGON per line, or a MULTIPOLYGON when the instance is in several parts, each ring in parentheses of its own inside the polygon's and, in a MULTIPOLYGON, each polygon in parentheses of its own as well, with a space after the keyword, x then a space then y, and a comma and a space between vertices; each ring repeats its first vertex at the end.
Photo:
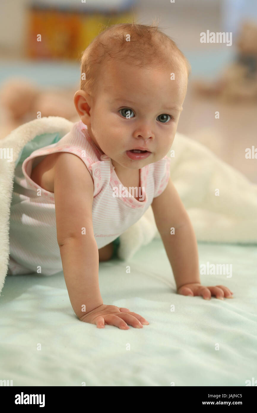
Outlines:
MULTIPOLYGON (((35 119, 0 141, 0 292, 9 260, 9 215, 14 170, 28 142, 39 136, 61 139, 73 123, 59 116, 35 119), (9 159, 7 159, 9 158, 9 159), (10 161, 11 160, 11 161, 10 161)), ((45 145, 49 145, 45 142, 45 145)), ((31 146, 31 152, 35 148, 31 146)), ((257 243, 257 185, 221 161, 204 145, 176 133, 170 175, 184 203, 198 241, 257 243), (215 195, 219 190, 219 196, 215 195)), ((172 207, 172 206, 171 206, 172 207)), ((142 245, 160 237, 151 207, 120 236, 120 259, 130 259, 142 245)))

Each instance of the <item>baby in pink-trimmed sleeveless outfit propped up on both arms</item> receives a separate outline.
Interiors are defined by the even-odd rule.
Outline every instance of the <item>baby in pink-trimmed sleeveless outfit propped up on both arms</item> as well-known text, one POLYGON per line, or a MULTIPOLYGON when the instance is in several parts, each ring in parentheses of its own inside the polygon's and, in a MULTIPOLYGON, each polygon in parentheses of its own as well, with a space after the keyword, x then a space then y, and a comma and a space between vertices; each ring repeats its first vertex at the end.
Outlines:
MULTIPOLYGON (((40 263, 45 275, 57 273, 61 265, 75 314, 97 328, 108 324, 127 330, 128 325, 149 324, 130 309, 103 303, 98 270, 99 261, 112 258, 119 235, 150 206, 177 293, 232 298, 223 285, 201 285, 196 236, 170 178, 168 152, 190 70, 186 57, 157 27, 111 26, 83 52, 80 90, 74 96, 80 121, 59 142, 34 151, 23 162, 23 176, 33 191, 24 192, 30 197, 24 225, 34 228, 35 251, 26 259, 21 245, 12 242, 19 233, 12 233, 15 216, 21 211, 14 197, 11 263, 22 264, 24 272, 40 263), (33 195, 38 189, 40 197, 33 195), (37 231, 31 199, 38 208, 37 222, 45 224, 37 231), (36 254, 37 245, 41 256, 36 254)), ((18 192, 21 188, 17 197, 18 192)))

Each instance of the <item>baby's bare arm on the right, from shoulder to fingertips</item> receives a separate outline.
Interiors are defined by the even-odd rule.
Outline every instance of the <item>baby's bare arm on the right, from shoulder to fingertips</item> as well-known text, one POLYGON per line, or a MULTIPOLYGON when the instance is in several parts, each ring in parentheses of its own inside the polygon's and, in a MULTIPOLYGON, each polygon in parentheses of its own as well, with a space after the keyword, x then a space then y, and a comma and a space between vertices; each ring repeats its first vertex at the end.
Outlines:
POLYGON ((186 209, 170 178, 165 190, 153 199, 156 225, 172 266, 177 292, 183 295, 211 295, 231 298, 227 287, 204 287, 200 283, 196 235, 186 209), (171 233, 174 228, 174 234, 171 233))

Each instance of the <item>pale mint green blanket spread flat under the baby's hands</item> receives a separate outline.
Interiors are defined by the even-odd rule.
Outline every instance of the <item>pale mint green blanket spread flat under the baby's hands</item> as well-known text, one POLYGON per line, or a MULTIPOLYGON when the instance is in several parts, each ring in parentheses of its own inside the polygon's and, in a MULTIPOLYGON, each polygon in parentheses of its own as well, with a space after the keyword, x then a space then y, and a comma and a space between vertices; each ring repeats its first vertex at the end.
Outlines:
POLYGON ((99 264, 104 303, 144 316, 150 324, 141 330, 79 321, 63 273, 8 275, 0 304, 1 378, 13 386, 245 386, 256 380, 256 246, 198 247, 199 265, 232 264, 232 277, 201 275, 201 282, 227 285, 233 299, 176 294, 161 240, 129 261, 99 264))

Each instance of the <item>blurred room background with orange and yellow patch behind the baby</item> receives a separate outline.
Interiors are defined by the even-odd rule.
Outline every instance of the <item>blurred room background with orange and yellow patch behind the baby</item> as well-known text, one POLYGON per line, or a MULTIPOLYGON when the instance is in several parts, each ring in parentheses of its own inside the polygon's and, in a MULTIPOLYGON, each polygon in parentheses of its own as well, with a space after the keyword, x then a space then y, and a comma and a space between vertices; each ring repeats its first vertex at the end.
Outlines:
POLYGON ((191 64, 177 132, 257 183, 257 159, 245 158, 246 148, 257 152, 256 0, 1 0, 0 138, 38 110, 78 121, 81 52, 133 16, 158 23, 191 64), (232 44, 201 43, 202 32, 231 32, 232 44))

